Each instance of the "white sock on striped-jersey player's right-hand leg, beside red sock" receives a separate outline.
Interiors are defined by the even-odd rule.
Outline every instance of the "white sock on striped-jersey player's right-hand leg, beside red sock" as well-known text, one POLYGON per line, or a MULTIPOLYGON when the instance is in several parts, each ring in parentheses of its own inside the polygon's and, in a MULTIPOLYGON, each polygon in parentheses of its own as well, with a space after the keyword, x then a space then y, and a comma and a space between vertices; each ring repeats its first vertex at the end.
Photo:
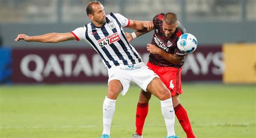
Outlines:
POLYGON ((160 101, 161 102, 161 111, 164 116, 165 126, 167 129, 167 136, 174 136, 174 109, 172 105, 172 98, 160 101))

